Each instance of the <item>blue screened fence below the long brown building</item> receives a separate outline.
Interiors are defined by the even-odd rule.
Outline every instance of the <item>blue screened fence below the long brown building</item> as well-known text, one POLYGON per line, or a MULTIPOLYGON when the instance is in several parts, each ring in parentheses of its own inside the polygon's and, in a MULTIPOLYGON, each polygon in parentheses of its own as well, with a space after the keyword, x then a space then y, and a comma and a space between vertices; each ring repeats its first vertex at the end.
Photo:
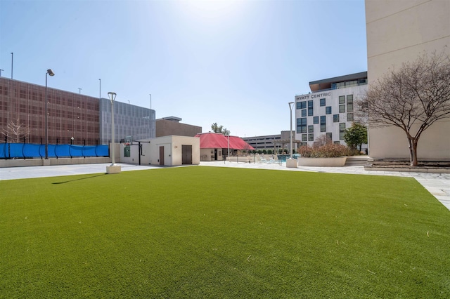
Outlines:
MULTIPOLYGON (((49 158, 109 157, 108 145, 48 145, 49 158)), ((42 159, 45 145, 0 143, 0 159, 42 159)))

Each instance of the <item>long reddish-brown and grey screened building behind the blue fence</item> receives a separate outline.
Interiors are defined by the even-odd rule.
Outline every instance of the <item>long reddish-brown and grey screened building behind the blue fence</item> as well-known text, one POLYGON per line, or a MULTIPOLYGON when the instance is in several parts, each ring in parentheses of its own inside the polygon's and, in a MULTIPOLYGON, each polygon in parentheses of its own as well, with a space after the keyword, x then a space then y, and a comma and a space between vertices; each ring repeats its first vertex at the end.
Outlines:
MULTIPOLYGON (((29 129, 25 142, 44 143, 46 128, 49 144, 106 144, 111 135, 109 99, 98 99, 55 88, 0 77, 1 142, 9 135, 11 121, 29 129), (47 93, 47 95, 46 95, 47 93)), ((155 110, 115 101, 115 142, 126 136, 134 140, 155 138, 155 110)))

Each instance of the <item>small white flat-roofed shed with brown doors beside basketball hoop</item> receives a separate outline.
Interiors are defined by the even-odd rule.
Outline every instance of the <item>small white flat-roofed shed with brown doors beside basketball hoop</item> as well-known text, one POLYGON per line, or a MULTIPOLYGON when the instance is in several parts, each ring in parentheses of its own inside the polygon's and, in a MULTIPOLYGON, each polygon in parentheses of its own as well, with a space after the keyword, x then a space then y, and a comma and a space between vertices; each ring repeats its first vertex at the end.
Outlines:
POLYGON ((124 143, 120 147, 120 161, 138 165, 198 165, 200 138, 169 135, 124 143))

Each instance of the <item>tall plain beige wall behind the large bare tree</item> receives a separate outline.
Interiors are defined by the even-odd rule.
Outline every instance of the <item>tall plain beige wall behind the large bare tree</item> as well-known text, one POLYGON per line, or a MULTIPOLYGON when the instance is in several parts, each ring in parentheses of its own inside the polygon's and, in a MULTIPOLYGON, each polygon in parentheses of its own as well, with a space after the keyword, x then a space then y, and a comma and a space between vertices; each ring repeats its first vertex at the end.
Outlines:
MULTIPOLYGON (((423 51, 450 53, 450 1, 366 0, 368 83, 390 68, 413 61, 423 51)), ((418 143, 418 159, 450 160, 450 119, 426 130, 418 143)), ((373 159, 409 159, 406 135, 400 128, 369 126, 373 159)))

